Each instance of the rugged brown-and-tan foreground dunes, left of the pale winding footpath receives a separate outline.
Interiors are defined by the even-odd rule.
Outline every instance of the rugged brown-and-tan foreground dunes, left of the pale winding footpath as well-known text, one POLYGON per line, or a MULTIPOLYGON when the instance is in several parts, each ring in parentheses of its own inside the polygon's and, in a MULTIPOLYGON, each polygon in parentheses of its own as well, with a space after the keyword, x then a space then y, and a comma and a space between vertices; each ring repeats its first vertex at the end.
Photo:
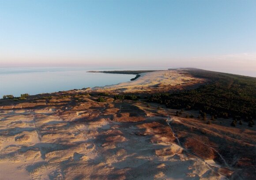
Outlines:
POLYGON ((224 179, 177 143, 167 112, 112 98, 59 102, 0 111, 1 180, 224 179))

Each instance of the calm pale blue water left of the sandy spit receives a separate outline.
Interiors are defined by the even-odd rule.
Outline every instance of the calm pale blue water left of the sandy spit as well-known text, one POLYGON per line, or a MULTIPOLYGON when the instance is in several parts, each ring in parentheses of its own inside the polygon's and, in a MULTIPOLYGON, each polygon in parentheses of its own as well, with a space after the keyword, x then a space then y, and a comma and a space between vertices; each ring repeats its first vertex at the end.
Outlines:
MULTIPOLYGON (((93 88, 130 81, 135 75, 87 73, 89 70, 149 70, 147 67, 1 67, 0 98, 4 95, 35 95, 70 89, 93 88)), ((153 69, 167 69, 156 67, 153 69)))

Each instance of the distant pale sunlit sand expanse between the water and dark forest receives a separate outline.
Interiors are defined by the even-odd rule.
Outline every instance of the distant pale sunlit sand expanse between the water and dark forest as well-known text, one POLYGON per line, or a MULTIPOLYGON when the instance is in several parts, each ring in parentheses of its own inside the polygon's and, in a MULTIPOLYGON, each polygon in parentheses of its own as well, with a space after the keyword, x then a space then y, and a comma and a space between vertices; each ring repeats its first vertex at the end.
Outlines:
POLYGON ((202 84, 204 79, 196 78, 184 70, 164 70, 141 73, 135 81, 128 81, 102 88, 94 88, 98 92, 166 92, 169 89, 183 89, 195 84, 202 84))

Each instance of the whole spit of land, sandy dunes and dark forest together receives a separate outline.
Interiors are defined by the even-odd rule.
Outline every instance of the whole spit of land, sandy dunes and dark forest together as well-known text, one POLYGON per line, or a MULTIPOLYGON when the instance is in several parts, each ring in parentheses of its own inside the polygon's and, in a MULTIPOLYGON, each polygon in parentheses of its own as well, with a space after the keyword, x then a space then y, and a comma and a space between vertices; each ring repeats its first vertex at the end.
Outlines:
POLYGON ((0 179, 256 179, 255 77, 89 72, 136 77, 0 99, 0 179))

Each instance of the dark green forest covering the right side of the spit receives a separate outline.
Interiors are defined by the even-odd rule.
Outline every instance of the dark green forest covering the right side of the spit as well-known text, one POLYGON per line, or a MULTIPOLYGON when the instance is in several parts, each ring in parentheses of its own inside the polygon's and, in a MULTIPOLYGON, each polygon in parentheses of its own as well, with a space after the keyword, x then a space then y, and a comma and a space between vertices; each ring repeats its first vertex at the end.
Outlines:
POLYGON ((215 118, 255 120, 256 78, 198 69, 184 73, 205 78, 208 83, 196 89, 153 94, 147 101, 174 109, 199 110, 215 118))

